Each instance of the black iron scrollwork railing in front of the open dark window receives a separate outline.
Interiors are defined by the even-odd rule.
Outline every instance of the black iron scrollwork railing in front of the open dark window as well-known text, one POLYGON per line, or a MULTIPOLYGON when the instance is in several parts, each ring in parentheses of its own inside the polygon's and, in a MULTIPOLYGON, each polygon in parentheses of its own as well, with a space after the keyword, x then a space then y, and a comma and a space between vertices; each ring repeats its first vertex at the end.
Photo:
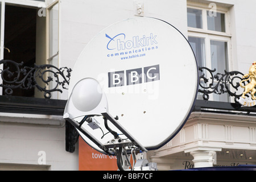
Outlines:
POLYGON ((57 68, 51 64, 34 65, 33 67, 23 67, 22 63, 16 63, 13 60, 1 60, 4 69, 0 69, 6 95, 12 95, 13 89, 20 88, 24 90, 37 88, 44 92, 45 98, 51 98, 52 92, 60 92, 62 89, 68 89, 71 77, 71 68, 57 68))

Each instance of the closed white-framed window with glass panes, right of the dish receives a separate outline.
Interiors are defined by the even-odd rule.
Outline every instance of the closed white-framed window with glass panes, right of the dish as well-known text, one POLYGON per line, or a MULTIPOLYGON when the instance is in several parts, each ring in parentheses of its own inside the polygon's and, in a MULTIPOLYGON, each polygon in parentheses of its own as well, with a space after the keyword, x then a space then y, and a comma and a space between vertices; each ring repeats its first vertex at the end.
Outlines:
MULTIPOLYGON (((229 71, 231 35, 228 9, 211 9, 208 5, 187 7, 188 42, 195 53, 199 67, 216 69, 214 73, 229 71)), ((204 72, 209 77, 209 73, 204 72)), ((202 83, 201 83, 202 84, 202 83)), ((200 95, 199 95, 200 97, 200 95)), ((210 96, 210 100, 228 101, 228 96, 210 96)))

